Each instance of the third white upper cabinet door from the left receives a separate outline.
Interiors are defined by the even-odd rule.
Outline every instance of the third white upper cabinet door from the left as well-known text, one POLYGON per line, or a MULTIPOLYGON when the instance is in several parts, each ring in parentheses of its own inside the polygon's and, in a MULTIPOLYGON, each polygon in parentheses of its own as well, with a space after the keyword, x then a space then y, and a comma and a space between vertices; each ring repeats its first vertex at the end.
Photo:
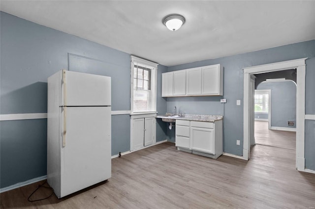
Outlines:
POLYGON ((187 94, 188 95, 198 95, 201 94, 201 68, 190 69, 187 71, 187 94))

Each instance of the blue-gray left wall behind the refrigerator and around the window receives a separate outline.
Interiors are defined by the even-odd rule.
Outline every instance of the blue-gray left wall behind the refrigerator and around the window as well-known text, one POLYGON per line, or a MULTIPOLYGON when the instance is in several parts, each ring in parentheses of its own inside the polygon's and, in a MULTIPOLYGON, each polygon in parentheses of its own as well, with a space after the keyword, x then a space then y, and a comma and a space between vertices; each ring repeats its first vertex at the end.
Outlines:
MULTIPOLYGON (((47 78, 61 69, 111 76, 112 110, 130 110, 130 54, 4 12, 0 21, 0 114, 47 112, 47 78)), ((0 188, 46 175, 47 119, 1 121, 0 131, 0 188)), ((157 123, 157 141, 166 138, 157 123)), ((129 150, 130 116, 113 115, 112 155, 129 150)))

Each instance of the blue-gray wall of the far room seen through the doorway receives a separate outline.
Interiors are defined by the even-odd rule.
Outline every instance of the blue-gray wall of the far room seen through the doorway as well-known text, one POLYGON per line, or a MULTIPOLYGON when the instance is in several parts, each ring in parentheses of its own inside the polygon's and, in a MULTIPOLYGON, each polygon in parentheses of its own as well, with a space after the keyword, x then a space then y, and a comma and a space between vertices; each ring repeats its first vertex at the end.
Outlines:
POLYGON ((271 89, 271 127, 296 128, 287 126, 287 121, 296 121, 296 84, 261 82, 257 89, 271 89))

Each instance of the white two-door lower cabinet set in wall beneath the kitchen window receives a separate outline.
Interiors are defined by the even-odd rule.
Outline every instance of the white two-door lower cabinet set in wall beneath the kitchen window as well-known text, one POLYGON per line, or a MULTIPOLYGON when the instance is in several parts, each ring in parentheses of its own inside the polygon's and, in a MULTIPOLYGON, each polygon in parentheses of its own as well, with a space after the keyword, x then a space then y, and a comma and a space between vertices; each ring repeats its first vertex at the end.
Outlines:
POLYGON ((155 143, 155 117, 131 119, 130 150, 138 150, 155 143))

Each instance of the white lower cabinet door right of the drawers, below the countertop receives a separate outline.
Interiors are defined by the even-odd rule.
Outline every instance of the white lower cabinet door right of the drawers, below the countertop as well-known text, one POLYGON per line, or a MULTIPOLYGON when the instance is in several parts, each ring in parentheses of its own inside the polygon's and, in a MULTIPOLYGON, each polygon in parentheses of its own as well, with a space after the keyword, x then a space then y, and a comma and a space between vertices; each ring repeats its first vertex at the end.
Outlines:
POLYGON ((191 149, 215 155, 213 129, 191 127, 191 149))

